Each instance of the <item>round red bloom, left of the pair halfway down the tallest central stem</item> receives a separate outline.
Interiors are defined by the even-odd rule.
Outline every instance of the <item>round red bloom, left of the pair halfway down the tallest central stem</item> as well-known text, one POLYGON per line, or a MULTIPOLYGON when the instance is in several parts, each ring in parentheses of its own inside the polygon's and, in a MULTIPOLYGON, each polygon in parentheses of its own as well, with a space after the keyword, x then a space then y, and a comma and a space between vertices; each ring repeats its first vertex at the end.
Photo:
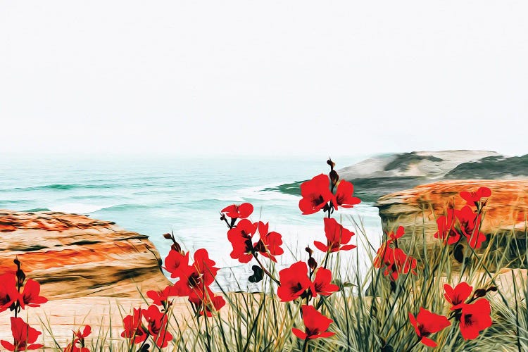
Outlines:
POLYGON ((294 301, 312 287, 312 282, 308 279, 308 267, 304 262, 297 262, 289 268, 280 270, 279 281, 277 296, 283 302, 294 301))

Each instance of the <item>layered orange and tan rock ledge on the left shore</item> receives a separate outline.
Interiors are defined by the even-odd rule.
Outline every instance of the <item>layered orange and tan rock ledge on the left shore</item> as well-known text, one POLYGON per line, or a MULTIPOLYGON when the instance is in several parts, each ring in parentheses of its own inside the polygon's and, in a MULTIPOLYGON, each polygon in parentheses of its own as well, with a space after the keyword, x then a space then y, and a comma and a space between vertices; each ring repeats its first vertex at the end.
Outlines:
POLYGON ((137 298, 169 281, 148 237, 84 215, 0 210, 0 273, 18 256, 27 277, 48 299, 137 298))

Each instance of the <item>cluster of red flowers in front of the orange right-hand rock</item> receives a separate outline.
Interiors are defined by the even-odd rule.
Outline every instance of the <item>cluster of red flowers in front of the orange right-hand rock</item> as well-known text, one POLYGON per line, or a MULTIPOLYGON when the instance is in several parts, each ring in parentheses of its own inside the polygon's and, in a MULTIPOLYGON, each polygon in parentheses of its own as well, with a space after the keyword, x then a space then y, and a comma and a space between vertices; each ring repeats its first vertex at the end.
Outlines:
POLYGON ((465 239, 473 249, 479 249, 486 241, 486 236, 480 231, 482 208, 487 203, 482 198, 491 196, 491 190, 480 187, 475 192, 462 191, 460 196, 466 205, 460 209, 450 208, 446 215, 439 216, 436 219, 438 231, 434 237, 443 240, 444 244, 458 244, 465 239))

